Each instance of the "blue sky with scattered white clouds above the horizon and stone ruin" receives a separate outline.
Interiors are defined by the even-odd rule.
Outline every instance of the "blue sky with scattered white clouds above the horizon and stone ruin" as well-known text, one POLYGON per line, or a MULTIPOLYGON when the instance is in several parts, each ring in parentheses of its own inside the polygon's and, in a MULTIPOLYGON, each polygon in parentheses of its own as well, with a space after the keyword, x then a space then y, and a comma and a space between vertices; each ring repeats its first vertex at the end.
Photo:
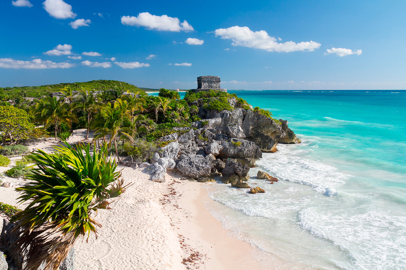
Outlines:
POLYGON ((2 0, 0 87, 406 89, 406 1, 2 0))

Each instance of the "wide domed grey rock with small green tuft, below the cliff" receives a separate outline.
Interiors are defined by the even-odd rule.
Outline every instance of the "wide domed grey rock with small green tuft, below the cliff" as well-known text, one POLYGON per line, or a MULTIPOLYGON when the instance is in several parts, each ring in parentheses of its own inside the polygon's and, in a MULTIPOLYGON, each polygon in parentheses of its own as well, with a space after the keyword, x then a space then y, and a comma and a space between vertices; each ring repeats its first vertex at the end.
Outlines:
POLYGON ((232 138, 222 142, 223 149, 220 151, 220 157, 262 157, 261 149, 255 143, 244 139, 232 138))

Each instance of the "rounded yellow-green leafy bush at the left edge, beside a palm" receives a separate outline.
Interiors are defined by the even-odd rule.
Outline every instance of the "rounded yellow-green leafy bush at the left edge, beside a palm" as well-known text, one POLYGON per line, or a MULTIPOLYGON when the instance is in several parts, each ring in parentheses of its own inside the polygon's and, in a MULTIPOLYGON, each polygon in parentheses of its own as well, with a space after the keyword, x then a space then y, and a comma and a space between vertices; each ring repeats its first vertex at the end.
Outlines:
POLYGON ((34 125, 26 111, 13 106, 0 106, 0 137, 10 143, 29 138, 34 125))

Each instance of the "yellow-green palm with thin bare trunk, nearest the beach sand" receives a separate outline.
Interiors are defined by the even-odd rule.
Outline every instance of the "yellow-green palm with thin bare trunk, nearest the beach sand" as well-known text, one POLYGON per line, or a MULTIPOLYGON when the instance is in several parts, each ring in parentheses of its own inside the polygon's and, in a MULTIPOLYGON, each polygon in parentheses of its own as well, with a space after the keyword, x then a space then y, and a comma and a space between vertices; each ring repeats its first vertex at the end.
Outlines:
POLYGON ((118 162, 120 162, 120 157, 117 149, 117 137, 123 136, 131 141, 134 140, 132 136, 128 134, 130 129, 122 126, 123 122, 128 117, 127 102, 118 99, 114 105, 107 103, 101 108, 100 114, 97 117, 98 121, 94 125, 94 128, 98 134, 95 135, 93 140, 110 135, 108 145, 111 147, 112 142, 114 142, 118 162))

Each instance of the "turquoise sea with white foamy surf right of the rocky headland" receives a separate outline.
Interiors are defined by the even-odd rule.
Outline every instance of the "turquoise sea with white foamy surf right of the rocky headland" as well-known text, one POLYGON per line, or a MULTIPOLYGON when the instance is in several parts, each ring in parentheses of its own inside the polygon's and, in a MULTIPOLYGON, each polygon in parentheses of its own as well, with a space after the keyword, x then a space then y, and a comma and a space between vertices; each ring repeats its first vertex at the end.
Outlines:
POLYGON ((250 170, 264 194, 207 185, 206 207, 229 235, 255 246, 263 269, 276 258, 289 269, 406 270, 406 91, 229 93, 302 140, 250 170))

